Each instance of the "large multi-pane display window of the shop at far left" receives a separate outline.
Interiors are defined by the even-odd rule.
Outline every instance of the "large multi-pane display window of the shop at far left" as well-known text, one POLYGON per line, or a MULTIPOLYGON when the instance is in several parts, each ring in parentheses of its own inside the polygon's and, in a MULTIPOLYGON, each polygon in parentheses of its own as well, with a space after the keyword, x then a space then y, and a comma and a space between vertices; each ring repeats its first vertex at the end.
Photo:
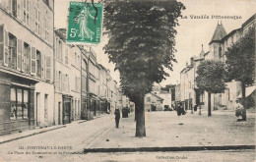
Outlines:
POLYGON ((10 120, 28 119, 29 91, 20 87, 11 87, 10 120))

